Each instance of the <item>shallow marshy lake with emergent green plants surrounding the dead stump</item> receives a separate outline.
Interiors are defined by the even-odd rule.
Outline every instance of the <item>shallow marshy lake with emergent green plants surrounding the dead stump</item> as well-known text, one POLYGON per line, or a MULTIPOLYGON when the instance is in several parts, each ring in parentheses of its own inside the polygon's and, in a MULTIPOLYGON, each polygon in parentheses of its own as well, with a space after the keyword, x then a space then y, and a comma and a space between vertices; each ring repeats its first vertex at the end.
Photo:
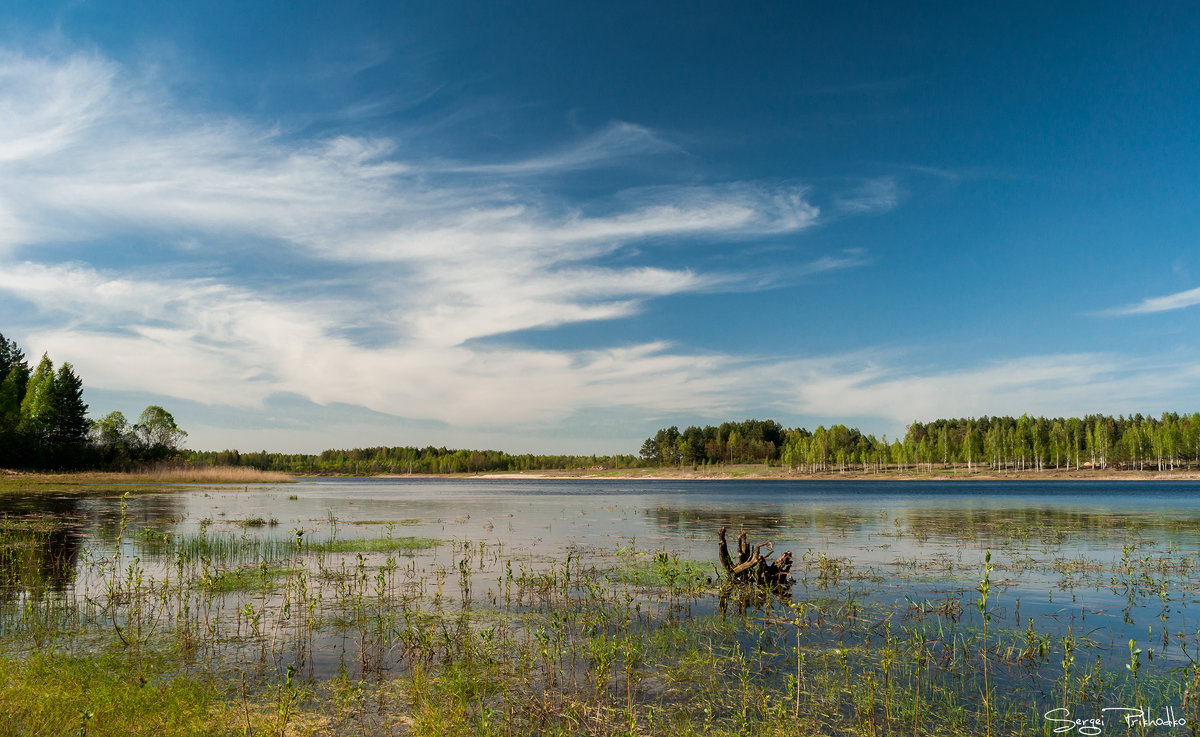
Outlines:
POLYGON ((710 486, 13 497, 0 731, 1049 735, 1056 708, 1139 706, 1187 724, 1106 733, 1200 724, 1192 487, 1147 507, 710 486), (730 581, 721 525, 794 551, 794 586, 730 581))

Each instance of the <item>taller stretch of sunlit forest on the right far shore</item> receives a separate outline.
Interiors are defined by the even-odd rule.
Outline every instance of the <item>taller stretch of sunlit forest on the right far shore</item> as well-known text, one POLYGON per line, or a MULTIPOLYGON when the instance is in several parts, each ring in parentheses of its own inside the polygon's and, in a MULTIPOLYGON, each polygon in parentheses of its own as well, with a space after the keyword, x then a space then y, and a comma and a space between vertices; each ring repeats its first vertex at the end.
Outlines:
POLYGON ((1200 413, 1160 417, 1022 414, 914 421, 904 438, 876 438, 846 425, 785 430, 774 420, 664 427, 646 439, 650 466, 779 465, 792 473, 1135 468, 1175 471, 1200 465, 1200 413))

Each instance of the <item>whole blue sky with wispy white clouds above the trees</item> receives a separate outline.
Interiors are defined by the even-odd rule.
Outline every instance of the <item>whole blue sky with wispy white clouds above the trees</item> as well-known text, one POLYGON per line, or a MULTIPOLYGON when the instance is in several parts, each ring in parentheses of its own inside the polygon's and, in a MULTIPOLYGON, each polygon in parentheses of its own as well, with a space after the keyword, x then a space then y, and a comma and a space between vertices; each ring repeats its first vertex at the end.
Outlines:
POLYGON ((202 449, 1193 411, 1196 37, 1116 2, 7 2, 0 331, 202 449))

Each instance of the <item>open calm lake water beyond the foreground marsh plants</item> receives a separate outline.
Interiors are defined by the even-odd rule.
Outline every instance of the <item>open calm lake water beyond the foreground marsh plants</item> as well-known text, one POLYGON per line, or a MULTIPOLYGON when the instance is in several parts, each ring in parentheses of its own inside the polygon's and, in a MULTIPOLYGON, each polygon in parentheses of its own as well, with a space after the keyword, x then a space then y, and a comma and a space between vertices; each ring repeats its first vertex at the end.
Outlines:
MULTIPOLYGON (((43 558, 65 562, 73 575, 44 567, 54 587, 84 600, 96 599, 112 575, 103 564, 119 532, 121 565, 136 559, 151 577, 172 565, 151 544, 155 535, 280 546, 298 532, 310 544, 432 538, 442 544, 406 553, 414 570, 452 579, 467 547, 494 551, 491 565, 463 573, 482 599, 498 588, 500 567, 538 571, 568 556, 602 567, 614 553, 661 551, 702 562, 715 581, 722 575, 716 531, 725 525, 731 544, 745 531, 751 544, 794 553, 791 601, 842 611, 851 603, 864 622, 880 616, 902 625, 938 612, 970 623, 990 552, 989 612, 994 627, 1010 633, 1057 639, 1069 628, 1112 663, 1128 658, 1133 639, 1156 648, 1150 667, 1168 669, 1190 659, 1184 647, 1200 624, 1200 483, 1192 481, 317 479, 126 498, 13 495, 0 498, 0 510, 64 522, 42 540, 53 547, 43 558)), ((365 559, 379 565, 383 557, 365 559)), ((346 556, 343 568, 353 561, 346 556)), ((689 611, 716 606, 715 595, 702 597, 689 611)))

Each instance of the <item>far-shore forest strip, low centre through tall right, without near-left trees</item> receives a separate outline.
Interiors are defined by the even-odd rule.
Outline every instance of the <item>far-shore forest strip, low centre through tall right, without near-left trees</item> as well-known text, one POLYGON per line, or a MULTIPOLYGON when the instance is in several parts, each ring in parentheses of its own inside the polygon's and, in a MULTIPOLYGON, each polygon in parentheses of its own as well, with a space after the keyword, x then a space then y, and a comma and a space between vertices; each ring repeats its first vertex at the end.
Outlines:
POLYGON ((1147 418, 971 418, 913 423, 902 439, 876 438, 833 425, 787 430, 775 420, 665 427, 634 455, 512 455, 499 450, 355 448, 319 455, 191 451, 203 466, 251 466, 295 474, 479 473, 761 463, 790 473, 920 472, 938 468, 1043 471, 1152 468, 1200 465, 1200 413, 1147 418))

